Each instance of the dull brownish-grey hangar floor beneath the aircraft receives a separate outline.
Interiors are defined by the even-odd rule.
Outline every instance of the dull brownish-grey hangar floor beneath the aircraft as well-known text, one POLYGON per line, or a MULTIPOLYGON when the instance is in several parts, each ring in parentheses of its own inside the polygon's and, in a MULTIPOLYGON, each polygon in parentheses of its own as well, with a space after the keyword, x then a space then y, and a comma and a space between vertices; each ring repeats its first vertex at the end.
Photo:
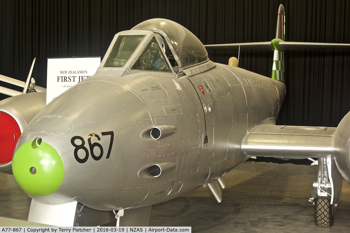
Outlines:
MULTIPOLYGON (((317 227, 308 202, 316 166, 244 162, 225 175, 222 203, 209 188, 153 205, 150 226, 191 226, 192 232, 349 232, 350 185, 343 181, 334 225, 317 227)), ((26 220, 30 198, 13 176, 0 174, 0 216, 26 220)))

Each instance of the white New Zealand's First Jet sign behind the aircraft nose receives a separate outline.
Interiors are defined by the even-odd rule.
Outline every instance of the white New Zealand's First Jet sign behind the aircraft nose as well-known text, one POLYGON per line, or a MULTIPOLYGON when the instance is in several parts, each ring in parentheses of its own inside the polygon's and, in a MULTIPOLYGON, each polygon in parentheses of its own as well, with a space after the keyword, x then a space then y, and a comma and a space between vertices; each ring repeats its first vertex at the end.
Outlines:
POLYGON ((93 75, 101 57, 47 58, 46 104, 93 75))

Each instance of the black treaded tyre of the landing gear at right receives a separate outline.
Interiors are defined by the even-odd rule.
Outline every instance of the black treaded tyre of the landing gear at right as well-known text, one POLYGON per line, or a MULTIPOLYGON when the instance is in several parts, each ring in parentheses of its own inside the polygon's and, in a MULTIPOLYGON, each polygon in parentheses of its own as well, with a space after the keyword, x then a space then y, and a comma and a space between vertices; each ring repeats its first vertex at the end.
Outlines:
POLYGON ((330 204, 330 199, 316 198, 315 223, 319 227, 330 227, 333 225, 333 205, 330 204))

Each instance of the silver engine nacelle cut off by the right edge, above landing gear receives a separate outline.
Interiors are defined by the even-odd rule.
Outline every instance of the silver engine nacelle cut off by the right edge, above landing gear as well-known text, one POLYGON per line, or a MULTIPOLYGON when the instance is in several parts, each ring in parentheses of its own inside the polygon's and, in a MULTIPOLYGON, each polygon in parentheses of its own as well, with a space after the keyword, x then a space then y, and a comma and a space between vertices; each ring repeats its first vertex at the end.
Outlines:
POLYGON ((334 159, 340 174, 350 184, 350 112, 339 123, 334 136, 334 159))

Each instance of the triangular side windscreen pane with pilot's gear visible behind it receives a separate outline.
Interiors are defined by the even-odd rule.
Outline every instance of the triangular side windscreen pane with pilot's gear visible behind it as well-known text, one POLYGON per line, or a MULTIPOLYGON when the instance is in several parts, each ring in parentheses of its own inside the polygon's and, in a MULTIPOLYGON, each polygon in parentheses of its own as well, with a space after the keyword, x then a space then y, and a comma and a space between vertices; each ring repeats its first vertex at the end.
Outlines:
POLYGON ((141 53, 141 56, 136 60, 132 69, 171 72, 168 63, 164 59, 164 53, 161 51, 154 37, 141 53))

